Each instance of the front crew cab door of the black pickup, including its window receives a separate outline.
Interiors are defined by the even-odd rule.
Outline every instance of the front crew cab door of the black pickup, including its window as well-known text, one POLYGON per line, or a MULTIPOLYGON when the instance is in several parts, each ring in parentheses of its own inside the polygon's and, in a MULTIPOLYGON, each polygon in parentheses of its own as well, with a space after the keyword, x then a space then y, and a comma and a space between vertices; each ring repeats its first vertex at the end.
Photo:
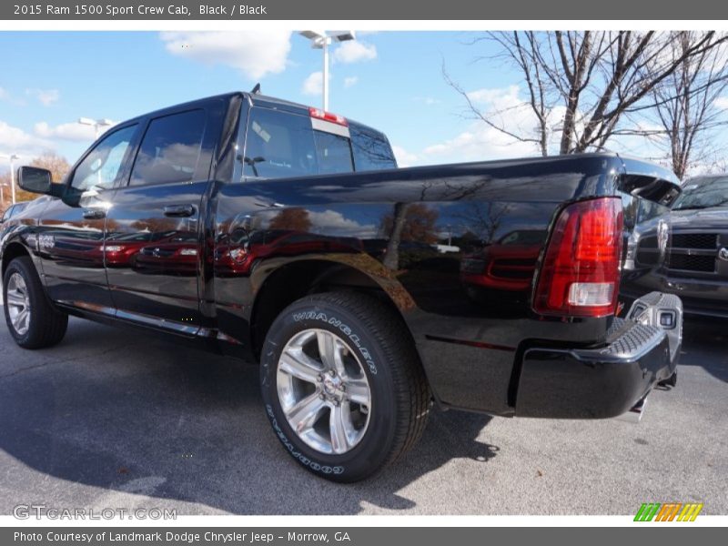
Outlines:
POLYGON ((112 314, 104 269, 106 211, 128 174, 139 126, 111 129, 66 178, 67 197, 52 199, 38 225, 38 254, 48 295, 76 308, 112 314))

